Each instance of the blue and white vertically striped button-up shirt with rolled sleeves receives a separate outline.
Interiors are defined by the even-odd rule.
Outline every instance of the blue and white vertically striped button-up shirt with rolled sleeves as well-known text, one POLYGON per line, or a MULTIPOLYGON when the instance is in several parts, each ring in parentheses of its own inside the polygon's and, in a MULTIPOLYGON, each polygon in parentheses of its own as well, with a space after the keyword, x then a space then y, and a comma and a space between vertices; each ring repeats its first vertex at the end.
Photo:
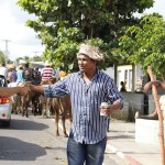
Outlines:
POLYGON ((87 85, 80 72, 66 76, 53 86, 44 86, 46 97, 61 97, 69 94, 73 109, 72 133, 74 139, 85 144, 95 144, 107 134, 108 118, 100 116, 101 102, 123 102, 123 98, 107 74, 98 70, 87 85))

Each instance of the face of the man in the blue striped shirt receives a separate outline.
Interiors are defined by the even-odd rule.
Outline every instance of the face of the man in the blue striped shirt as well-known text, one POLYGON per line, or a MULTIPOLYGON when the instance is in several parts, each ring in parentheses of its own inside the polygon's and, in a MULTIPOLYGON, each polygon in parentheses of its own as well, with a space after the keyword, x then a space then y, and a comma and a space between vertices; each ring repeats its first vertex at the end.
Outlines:
POLYGON ((91 69, 96 68, 96 61, 89 58, 84 54, 78 55, 77 59, 80 72, 88 73, 91 69))

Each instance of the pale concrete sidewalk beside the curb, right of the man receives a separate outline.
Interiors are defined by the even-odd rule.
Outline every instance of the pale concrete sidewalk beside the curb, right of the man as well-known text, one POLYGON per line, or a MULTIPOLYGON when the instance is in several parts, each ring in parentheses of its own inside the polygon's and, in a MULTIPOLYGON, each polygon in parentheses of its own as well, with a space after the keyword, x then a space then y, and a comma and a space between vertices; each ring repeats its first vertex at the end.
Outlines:
POLYGON ((107 148, 130 165, 162 165, 160 144, 135 142, 135 123, 111 121, 107 148))

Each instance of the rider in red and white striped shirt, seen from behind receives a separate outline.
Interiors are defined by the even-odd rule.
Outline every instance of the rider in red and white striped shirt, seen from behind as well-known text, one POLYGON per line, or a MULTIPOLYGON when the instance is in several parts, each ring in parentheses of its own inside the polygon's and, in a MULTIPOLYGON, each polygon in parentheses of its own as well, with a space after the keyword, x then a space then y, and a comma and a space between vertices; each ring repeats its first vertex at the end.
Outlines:
POLYGON ((41 70, 42 80, 51 79, 54 76, 54 70, 51 64, 46 61, 44 67, 41 70))

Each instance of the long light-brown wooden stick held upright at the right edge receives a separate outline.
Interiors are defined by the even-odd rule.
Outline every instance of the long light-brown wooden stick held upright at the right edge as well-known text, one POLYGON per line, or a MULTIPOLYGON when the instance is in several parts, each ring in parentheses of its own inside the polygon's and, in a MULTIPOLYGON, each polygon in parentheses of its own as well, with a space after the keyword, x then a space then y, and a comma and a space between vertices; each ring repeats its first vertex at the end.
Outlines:
MULTIPOLYGON (((151 81, 155 80, 151 67, 147 67, 147 73, 150 75, 151 81)), ((156 111, 158 114, 158 123, 160 123, 158 136, 160 136, 161 152, 162 152, 162 165, 165 165, 164 124, 163 124, 164 119, 163 119, 163 114, 161 111, 157 89, 156 89, 156 86, 154 86, 154 85, 152 86, 152 92, 153 92, 153 97, 154 97, 154 101, 155 101, 155 106, 156 106, 156 111)))

